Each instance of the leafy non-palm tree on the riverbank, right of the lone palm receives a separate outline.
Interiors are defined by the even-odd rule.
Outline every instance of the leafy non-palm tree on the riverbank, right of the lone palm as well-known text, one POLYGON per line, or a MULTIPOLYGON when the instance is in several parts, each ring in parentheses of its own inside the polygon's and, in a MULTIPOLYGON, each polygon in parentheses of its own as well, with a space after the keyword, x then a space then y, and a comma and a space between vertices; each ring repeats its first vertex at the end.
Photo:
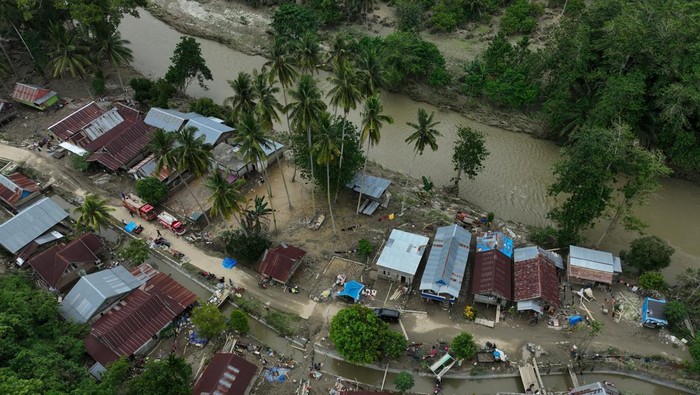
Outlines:
POLYGON ((483 170, 483 162, 488 156, 489 150, 483 133, 470 127, 457 128, 457 141, 452 154, 452 164, 457 172, 457 176, 452 179, 456 194, 459 194, 462 173, 473 180, 483 170))

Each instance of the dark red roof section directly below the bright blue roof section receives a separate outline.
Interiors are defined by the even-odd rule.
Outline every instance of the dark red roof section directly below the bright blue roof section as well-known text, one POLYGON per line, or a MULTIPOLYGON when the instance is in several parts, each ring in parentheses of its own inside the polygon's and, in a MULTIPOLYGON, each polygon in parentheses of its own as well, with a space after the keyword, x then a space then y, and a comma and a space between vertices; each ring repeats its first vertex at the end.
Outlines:
POLYGON ((513 265, 510 258, 498 250, 476 253, 472 293, 480 295, 497 295, 513 300, 511 278, 513 265))

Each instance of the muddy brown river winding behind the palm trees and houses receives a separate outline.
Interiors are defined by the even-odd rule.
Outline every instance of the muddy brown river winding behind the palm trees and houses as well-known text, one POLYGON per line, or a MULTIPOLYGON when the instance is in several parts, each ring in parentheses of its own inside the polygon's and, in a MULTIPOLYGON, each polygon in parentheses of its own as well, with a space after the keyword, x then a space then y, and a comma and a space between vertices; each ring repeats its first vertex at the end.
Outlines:
MULTIPOLYGON (((145 11, 141 12, 141 18, 126 16, 120 30, 123 38, 131 41, 134 67, 148 77, 162 77, 181 34, 145 11)), ((208 90, 192 84, 188 90, 192 96, 207 96, 221 103, 233 94, 227 80, 235 78, 240 71, 259 69, 265 62, 262 57, 245 55, 210 40, 198 41, 214 81, 207 83, 208 90)), ((324 91, 328 91, 327 76, 327 73, 317 75, 324 91)), ((403 95, 383 93, 382 99, 386 113, 395 122, 382 130, 380 144, 372 149, 372 160, 392 170, 408 170, 412 148, 404 143, 411 131, 406 122, 414 121, 417 109, 423 107, 435 112, 443 137, 439 139, 437 152, 426 151, 416 160, 414 176, 431 177, 438 186, 449 183, 453 176, 450 157, 455 129, 459 125, 471 126, 486 134, 491 156, 475 180, 462 182, 461 196, 484 210, 493 211, 499 218, 530 225, 547 223, 546 213, 555 204, 547 196, 547 185, 553 178, 552 164, 559 156, 556 145, 480 124, 455 112, 441 112, 403 95)), ((353 112, 350 117, 358 122, 359 112, 353 112)), ((676 248, 673 264, 666 270, 667 279, 673 281, 676 274, 697 266, 700 260, 700 243, 697 242, 700 240, 700 186, 676 179, 664 180, 662 184, 663 189, 651 197, 647 206, 639 208, 637 214, 649 223, 649 234, 668 240, 676 248)), ((601 224, 591 230, 590 240, 596 241, 604 228, 601 224)), ((636 236, 618 228, 601 248, 617 253, 636 236)))

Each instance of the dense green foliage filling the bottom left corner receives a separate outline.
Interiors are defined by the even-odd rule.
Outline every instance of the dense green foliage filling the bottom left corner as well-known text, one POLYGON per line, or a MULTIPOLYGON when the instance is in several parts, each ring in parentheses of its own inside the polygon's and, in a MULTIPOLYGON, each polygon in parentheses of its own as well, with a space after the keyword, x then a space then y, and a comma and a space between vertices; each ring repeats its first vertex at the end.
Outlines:
POLYGON ((69 393, 91 381, 84 367, 87 325, 63 321, 55 295, 30 277, 0 277, 0 392, 69 393))

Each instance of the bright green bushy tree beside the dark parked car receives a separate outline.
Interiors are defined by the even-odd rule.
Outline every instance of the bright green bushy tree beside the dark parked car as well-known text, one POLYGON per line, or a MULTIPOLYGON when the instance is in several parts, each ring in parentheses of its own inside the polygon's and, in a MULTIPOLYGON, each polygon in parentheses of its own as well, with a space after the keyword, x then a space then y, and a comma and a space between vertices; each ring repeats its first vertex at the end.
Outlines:
POLYGON ((389 330, 371 309, 361 305, 342 309, 333 317, 330 339, 340 355, 359 364, 373 363, 383 356, 396 358, 406 349, 401 334, 389 330))

